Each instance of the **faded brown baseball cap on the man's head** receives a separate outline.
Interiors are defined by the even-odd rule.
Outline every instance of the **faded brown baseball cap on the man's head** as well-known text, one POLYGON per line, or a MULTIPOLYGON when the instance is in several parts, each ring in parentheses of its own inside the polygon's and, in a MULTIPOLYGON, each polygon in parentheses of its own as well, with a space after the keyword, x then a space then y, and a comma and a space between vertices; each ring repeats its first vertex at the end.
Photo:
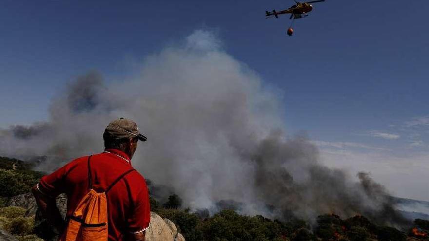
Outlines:
POLYGON ((146 136, 140 134, 136 122, 119 118, 116 119, 107 125, 106 130, 104 130, 103 139, 123 139, 123 138, 134 138, 137 137, 140 141, 147 141, 146 136))

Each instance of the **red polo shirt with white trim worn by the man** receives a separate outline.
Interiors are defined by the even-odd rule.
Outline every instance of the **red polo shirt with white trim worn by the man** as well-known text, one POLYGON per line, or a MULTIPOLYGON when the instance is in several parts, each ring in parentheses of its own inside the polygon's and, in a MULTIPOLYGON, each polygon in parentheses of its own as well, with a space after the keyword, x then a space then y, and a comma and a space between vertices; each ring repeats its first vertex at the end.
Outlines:
MULTIPOLYGON (((127 154, 116 149, 93 155, 90 165, 92 185, 98 192, 105 191, 121 174, 133 168, 127 154)), ((42 177, 37 187, 49 196, 66 193, 69 216, 89 191, 88 185, 88 156, 84 156, 42 177)), ((149 194, 140 173, 128 173, 107 195, 109 241, 122 241, 126 234, 143 232, 149 227, 149 194)))

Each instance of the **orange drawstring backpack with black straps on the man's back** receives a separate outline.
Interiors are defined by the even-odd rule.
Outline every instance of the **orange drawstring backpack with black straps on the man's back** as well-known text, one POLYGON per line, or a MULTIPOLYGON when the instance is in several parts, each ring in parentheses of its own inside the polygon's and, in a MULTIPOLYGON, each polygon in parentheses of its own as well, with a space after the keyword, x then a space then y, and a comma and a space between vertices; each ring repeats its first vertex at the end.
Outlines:
POLYGON ((126 171, 104 192, 98 193, 92 188, 90 159, 91 156, 88 157, 89 192, 80 200, 73 214, 67 217, 67 228, 60 241, 107 241, 107 193, 125 175, 135 171, 126 171))

